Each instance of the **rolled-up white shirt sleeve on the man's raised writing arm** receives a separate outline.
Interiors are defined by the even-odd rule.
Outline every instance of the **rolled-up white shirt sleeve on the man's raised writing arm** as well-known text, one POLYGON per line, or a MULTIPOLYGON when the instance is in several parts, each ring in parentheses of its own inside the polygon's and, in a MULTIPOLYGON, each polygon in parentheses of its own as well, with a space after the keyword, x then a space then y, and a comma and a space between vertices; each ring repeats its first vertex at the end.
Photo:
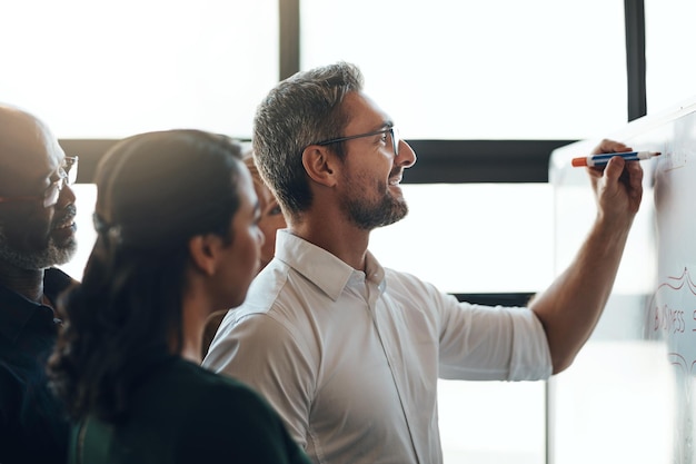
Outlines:
POLYGON ((391 295, 426 318, 438 376, 460 381, 537 381, 553 366, 546 333, 525 307, 460 303, 405 273, 388 275, 391 295))

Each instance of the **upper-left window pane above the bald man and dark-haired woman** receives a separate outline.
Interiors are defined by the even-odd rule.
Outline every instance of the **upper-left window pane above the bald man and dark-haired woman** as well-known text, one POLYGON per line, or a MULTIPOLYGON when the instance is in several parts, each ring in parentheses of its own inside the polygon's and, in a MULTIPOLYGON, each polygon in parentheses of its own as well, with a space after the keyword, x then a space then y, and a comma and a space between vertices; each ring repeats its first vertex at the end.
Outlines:
POLYGON ((250 137, 278 78, 276 0, 0 3, 0 101, 60 138, 190 127, 250 137))

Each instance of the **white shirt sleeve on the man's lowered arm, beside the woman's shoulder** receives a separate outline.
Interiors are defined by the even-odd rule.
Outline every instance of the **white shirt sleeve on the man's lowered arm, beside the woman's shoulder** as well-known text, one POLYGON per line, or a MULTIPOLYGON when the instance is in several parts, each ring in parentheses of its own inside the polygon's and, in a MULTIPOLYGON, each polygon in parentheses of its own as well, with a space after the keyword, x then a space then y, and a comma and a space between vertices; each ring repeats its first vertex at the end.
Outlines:
POLYGON ((203 367, 249 385, 270 403, 302 448, 316 373, 308 347, 271 316, 228 315, 213 339, 203 367))

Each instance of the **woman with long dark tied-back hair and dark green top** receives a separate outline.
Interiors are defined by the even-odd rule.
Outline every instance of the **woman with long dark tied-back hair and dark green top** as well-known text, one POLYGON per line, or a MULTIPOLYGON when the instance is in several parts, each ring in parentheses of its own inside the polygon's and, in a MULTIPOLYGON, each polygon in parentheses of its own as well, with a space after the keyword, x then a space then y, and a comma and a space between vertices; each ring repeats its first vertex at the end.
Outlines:
POLYGON ((100 161, 98 237, 59 305, 51 386, 74 419, 69 463, 307 463, 247 386, 199 366, 210 314, 240 305, 264 237, 232 140, 133 136, 100 161))

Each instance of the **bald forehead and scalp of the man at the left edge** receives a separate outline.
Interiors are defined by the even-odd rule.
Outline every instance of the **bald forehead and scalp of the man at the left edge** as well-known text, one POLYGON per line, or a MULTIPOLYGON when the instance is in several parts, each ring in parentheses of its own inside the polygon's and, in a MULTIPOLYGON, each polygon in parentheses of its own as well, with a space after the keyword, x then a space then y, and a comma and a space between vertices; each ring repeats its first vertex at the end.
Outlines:
POLYGON ((33 117, 0 110, 0 182, 3 190, 40 186, 64 158, 51 131, 33 117))

